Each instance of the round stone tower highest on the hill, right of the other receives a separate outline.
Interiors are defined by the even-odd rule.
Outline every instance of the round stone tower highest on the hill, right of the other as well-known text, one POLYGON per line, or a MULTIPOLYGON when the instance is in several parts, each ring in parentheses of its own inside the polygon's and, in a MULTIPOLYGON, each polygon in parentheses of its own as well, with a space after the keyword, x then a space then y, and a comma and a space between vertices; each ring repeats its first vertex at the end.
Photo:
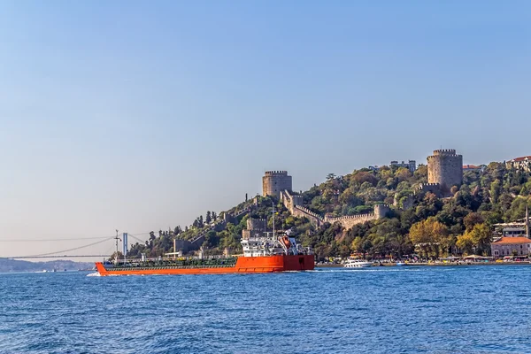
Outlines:
POLYGON ((435 150, 427 157, 427 182, 438 183, 448 195, 452 186, 463 183, 463 155, 456 150, 435 150))

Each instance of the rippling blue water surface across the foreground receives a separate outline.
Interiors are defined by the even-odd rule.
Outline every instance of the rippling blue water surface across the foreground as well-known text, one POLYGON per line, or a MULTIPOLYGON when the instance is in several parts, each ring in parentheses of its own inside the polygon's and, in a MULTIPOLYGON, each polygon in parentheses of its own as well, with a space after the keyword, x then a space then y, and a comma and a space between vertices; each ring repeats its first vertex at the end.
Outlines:
POLYGON ((0 274, 1 353, 530 353, 531 267, 0 274))

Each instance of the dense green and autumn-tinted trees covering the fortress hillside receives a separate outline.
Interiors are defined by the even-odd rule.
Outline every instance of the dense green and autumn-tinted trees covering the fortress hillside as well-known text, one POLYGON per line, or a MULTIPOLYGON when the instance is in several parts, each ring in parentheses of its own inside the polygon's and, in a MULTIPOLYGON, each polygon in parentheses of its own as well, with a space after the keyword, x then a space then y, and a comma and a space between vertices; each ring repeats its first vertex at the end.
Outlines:
POLYGON ((449 254, 489 254, 493 224, 520 219, 526 205, 531 205, 529 173, 506 169, 493 162, 482 170, 466 171, 460 187, 451 189, 452 196, 439 198, 419 191, 419 183, 427 181, 427 166, 411 173, 406 168, 383 166, 379 170, 356 170, 344 176, 328 174, 326 181, 303 193, 304 206, 321 215, 335 216, 371 212, 374 204, 392 205, 384 219, 358 224, 345 230, 339 224, 314 227, 306 218, 290 215, 279 200, 258 196, 227 212, 251 208, 250 214, 227 223, 222 230, 212 228, 223 212, 207 212, 192 225, 151 233, 144 244, 132 245, 130 255, 145 252, 157 257, 173 250, 173 237, 192 240, 206 232, 203 247, 219 254, 228 248, 241 250, 242 229, 248 218, 268 219, 272 226, 272 204, 275 204, 277 229, 291 230, 304 246, 311 246, 318 258, 348 257, 357 253, 368 258, 400 258, 419 254, 435 258, 449 254))

